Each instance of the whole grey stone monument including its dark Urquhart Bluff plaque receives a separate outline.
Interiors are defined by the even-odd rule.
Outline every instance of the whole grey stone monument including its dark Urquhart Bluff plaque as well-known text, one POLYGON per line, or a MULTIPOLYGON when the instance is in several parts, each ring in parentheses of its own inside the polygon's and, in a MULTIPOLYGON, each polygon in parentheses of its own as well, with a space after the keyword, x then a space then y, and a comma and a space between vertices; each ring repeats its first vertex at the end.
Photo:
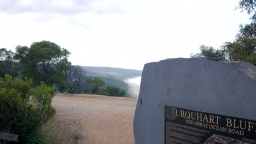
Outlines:
POLYGON ((256 67, 174 58, 144 65, 136 144, 256 143, 256 67))

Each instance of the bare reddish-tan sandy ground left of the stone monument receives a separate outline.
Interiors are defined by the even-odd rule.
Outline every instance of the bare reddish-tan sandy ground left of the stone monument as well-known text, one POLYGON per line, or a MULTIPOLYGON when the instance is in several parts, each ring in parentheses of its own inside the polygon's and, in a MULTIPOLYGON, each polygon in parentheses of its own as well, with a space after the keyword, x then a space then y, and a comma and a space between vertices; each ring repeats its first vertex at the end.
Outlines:
POLYGON ((137 99, 87 94, 57 94, 53 106, 79 125, 84 144, 133 144, 137 99))

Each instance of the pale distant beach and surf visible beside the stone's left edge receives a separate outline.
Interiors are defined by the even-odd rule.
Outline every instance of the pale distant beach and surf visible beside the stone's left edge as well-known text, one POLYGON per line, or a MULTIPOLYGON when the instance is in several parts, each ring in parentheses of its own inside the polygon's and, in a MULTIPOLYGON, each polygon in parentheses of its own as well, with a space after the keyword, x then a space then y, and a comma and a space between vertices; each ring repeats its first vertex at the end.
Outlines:
POLYGON ((141 85, 141 76, 134 77, 132 79, 127 79, 124 81, 129 86, 129 93, 133 98, 138 98, 139 87, 141 85))

